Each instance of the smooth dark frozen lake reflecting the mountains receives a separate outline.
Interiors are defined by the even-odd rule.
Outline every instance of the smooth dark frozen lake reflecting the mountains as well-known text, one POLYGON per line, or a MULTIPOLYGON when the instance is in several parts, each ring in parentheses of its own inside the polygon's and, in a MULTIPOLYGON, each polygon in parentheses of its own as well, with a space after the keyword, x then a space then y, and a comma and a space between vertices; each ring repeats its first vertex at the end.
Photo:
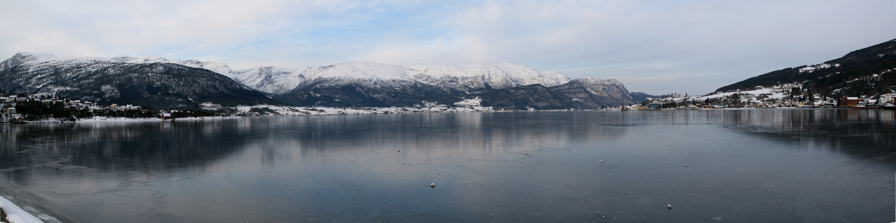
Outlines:
POLYGON ((0 169, 97 222, 892 222, 894 129, 851 109, 0 124, 0 169))

